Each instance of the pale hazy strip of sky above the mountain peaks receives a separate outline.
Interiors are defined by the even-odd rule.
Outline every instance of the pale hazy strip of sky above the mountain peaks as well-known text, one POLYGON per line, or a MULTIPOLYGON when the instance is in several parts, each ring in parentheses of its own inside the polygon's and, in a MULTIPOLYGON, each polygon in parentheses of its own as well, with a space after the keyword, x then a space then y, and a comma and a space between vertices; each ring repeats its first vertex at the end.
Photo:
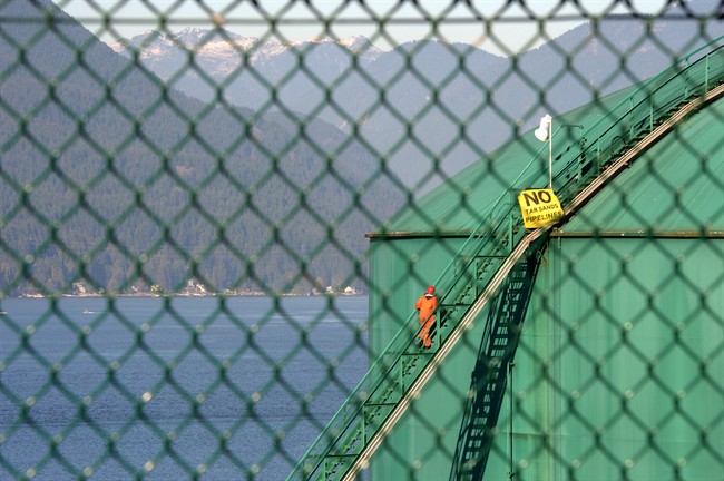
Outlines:
POLYGON ((412 1, 392 0, 258 0, 255 6, 248 0, 55 1, 107 42, 159 29, 163 19, 166 29, 174 32, 185 27, 213 28, 217 23, 246 37, 271 36, 291 41, 362 35, 383 49, 429 38, 474 45, 499 55, 536 47, 586 21, 586 14, 600 17, 632 10, 657 13, 667 3, 630 0, 632 7, 627 7, 624 1, 579 0, 576 7, 571 1, 560 6, 560 1, 551 0, 498 0, 471 1, 468 6, 464 1, 419 0, 415 6, 412 1), (539 19, 546 19, 542 27, 539 19), (275 30, 271 30, 270 20, 274 20, 275 30))

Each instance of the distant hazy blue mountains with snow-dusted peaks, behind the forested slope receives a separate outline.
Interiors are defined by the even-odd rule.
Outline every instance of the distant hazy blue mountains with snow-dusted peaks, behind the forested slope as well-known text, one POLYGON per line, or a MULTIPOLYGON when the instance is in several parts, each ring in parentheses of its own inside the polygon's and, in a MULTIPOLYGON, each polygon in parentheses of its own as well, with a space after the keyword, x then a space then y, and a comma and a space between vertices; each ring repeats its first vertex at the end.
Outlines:
POLYGON ((720 10, 699 0, 657 18, 591 19, 511 58, 432 40, 384 51, 364 37, 282 42, 199 28, 148 31, 112 49, 204 101, 222 96, 292 122, 332 124, 372 147, 405 185, 425 190, 544 114, 650 78, 722 36, 720 10))

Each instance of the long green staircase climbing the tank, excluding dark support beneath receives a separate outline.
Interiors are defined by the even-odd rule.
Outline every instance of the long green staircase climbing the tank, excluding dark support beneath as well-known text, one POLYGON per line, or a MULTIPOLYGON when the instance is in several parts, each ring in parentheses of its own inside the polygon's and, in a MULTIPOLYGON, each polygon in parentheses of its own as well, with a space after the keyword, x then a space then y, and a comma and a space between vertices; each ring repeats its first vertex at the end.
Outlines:
MULTIPOLYGON (((587 140, 586 148, 567 149, 557 159, 564 166, 554 178, 561 204, 574 202, 589 184, 603 177, 622 153, 669 119, 683 104, 703 98, 723 82, 724 37, 720 37, 643 84, 586 129, 581 136, 587 140)), ((528 174, 542 150, 513 185, 528 174)), ((436 281, 441 293, 437 347, 420 351, 417 336, 402 327, 287 480, 353 478, 452 349, 464 323, 477 316, 516 259, 529 252, 548 228, 526 232, 518 207, 512 205, 509 193, 503 193, 436 281)), ((412 325, 414 315, 410 314, 407 325, 412 325)))

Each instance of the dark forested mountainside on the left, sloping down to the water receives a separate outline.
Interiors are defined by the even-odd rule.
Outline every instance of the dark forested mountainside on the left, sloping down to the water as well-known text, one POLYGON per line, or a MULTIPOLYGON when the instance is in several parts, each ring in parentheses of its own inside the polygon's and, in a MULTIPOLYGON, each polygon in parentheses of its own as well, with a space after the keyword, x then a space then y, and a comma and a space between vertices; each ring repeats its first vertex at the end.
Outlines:
POLYGON ((364 287, 404 198, 363 147, 188 98, 49 1, 0 14, 0 293, 364 287))

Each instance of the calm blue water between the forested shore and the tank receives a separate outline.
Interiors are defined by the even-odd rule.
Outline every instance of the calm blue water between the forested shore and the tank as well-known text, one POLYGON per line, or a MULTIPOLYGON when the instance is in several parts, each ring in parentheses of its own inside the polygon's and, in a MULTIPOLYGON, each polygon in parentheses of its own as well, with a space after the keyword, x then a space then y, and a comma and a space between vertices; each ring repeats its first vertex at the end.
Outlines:
POLYGON ((331 302, 3 300, 0 479, 283 480, 366 371, 368 298, 331 302))

